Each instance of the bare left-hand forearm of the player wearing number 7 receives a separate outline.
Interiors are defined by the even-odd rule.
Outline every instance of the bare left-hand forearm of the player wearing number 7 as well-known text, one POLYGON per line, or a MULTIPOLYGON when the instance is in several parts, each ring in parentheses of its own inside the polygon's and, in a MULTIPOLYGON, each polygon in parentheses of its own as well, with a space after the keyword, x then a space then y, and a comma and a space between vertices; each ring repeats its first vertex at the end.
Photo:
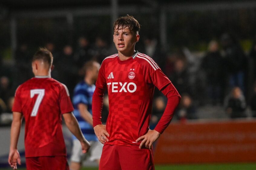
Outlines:
POLYGON ((10 149, 17 149, 18 139, 21 130, 21 120, 12 121, 11 124, 11 142, 10 142, 10 149))

